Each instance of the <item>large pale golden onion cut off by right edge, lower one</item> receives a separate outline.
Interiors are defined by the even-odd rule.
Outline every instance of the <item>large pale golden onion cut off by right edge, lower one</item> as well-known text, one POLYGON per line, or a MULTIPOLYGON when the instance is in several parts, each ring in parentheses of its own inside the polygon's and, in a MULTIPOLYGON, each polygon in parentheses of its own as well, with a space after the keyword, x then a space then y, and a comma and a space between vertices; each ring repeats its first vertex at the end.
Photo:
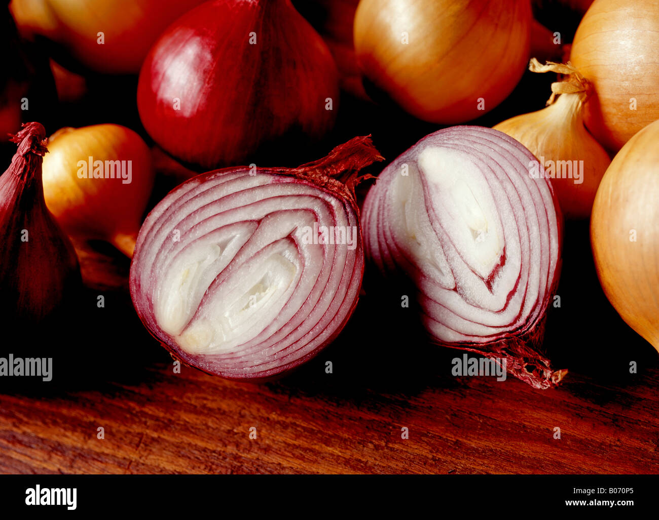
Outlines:
POLYGON ((617 153, 597 190, 590 221, 604 294, 659 351, 659 121, 617 153))

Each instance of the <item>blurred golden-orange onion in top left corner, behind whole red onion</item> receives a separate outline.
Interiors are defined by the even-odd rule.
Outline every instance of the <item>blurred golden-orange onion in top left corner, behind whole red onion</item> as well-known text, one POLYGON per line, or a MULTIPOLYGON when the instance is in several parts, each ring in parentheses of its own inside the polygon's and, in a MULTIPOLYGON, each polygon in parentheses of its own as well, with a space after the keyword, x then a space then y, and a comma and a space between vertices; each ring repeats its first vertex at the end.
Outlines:
POLYGON ((47 38, 91 70, 137 74, 151 45, 171 22, 204 0, 12 0, 25 38, 47 38), (103 32, 103 43, 99 43, 103 32))

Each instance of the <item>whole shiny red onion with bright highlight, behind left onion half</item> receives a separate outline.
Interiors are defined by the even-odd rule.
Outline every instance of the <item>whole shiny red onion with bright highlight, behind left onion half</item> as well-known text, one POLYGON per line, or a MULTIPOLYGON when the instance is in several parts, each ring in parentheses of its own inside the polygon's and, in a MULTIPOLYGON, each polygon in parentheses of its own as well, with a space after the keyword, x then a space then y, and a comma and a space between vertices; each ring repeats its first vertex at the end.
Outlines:
POLYGON ((290 0, 216 0, 161 35, 142 66, 137 103, 165 151, 213 168, 287 134, 321 138, 338 96, 329 49, 290 0))

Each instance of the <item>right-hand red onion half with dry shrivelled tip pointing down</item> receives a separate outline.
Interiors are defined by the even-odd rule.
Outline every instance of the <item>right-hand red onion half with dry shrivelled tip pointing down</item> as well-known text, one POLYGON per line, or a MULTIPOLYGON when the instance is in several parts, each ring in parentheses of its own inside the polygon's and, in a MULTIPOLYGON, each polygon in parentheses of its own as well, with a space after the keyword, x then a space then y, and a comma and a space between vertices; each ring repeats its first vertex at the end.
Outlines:
POLYGON ((562 221, 536 165, 498 130, 445 128, 380 174, 362 222, 366 257, 409 275, 434 342, 505 358, 509 373, 550 388, 566 373, 542 350, 562 221))

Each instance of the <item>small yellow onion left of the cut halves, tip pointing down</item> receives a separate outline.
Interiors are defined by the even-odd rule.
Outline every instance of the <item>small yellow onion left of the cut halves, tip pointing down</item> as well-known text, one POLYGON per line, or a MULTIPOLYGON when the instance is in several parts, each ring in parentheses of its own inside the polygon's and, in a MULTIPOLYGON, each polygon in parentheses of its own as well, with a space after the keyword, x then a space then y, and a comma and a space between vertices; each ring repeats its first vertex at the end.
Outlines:
POLYGON ((131 257, 154 184, 146 143, 125 126, 97 124, 62 128, 48 151, 43 195, 55 219, 69 235, 105 240, 131 257))

